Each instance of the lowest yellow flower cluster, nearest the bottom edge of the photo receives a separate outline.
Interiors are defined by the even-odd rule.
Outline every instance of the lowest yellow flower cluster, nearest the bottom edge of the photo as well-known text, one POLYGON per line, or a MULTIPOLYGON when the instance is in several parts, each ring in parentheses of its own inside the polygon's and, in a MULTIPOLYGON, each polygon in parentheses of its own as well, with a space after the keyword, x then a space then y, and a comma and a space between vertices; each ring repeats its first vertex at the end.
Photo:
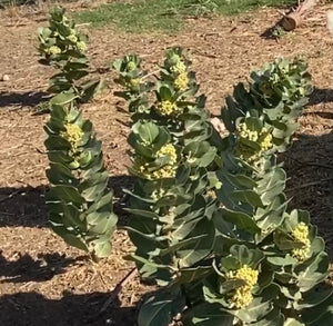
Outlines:
POLYGON ((258 283, 258 275, 259 271, 249 267, 248 265, 243 265, 240 269, 226 273, 226 279, 242 279, 245 281, 245 285, 236 288, 230 298, 229 303, 231 308, 242 309, 252 303, 252 289, 258 283))

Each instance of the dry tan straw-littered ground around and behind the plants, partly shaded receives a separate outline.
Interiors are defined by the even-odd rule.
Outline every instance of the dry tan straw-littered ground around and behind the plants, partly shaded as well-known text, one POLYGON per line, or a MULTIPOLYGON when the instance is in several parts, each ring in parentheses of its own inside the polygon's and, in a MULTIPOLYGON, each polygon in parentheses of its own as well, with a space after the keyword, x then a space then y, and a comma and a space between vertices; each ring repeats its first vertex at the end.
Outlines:
MULTIPOLYGON (((325 27, 325 10, 319 7, 306 24, 279 41, 262 37, 279 19, 273 9, 233 18, 189 20, 186 29, 172 34, 124 34, 112 27, 88 30, 89 56, 94 68, 128 52, 142 55, 148 67, 161 61, 167 47, 189 49, 208 109, 218 113, 223 98, 252 68, 275 56, 307 58, 316 87, 311 105, 301 117, 301 129, 291 150, 283 155, 289 174, 286 192, 292 207, 309 209, 313 223, 333 254, 333 91, 332 39, 325 27)), ((1 13, 0 13, 1 14, 1 13)), ((135 305, 152 287, 138 276, 100 314, 111 289, 132 269, 123 256, 132 248, 123 230, 114 235, 109 259, 94 265, 82 253, 69 248, 47 224, 44 192, 43 124, 48 115, 33 107, 46 97, 49 67, 38 63, 36 30, 40 17, 17 23, 0 16, 0 325, 121 325, 135 324, 135 305)), ((84 107, 103 141, 111 185, 131 186, 127 172, 128 116, 125 103, 110 90, 84 107)), ((122 215, 121 205, 117 211, 122 215)), ((121 219, 125 224, 125 219, 121 219)))

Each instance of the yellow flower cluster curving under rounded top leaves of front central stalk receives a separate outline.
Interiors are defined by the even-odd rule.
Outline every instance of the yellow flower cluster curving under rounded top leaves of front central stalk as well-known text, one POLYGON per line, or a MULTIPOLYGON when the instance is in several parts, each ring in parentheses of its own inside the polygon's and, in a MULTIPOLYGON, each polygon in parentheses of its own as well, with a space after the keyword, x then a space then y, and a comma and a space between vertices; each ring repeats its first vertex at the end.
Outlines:
POLYGON ((149 180, 174 178, 176 171, 178 156, 175 148, 172 144, 167 144, 163 147, 161 147, 161 149, 157 151, 155 158, 161 158, 165 156, 169 156, 170 158, 169 164, 153 171, 149 170, 150 165, 142 156, 137 156, 134 159, 134 168, 139 170, 144 178, 149 180))

